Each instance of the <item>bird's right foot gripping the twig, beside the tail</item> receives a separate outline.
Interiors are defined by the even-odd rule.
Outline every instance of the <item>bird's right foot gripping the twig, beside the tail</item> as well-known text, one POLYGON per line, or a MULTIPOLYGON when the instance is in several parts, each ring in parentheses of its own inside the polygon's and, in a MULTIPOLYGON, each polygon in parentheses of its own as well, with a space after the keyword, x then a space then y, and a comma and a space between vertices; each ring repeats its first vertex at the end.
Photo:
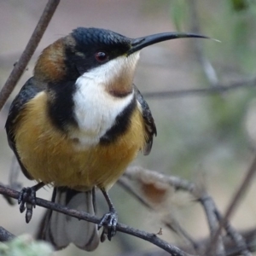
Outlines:
POLYGON ((106 236, 108 240, 111 241, 111 238, 116 234, 116 226, 118 224, 118 214, 114 209, 103 215, 100 224, 98 224, 98 230, 103 227, 101 241, 105 241, 106 236))

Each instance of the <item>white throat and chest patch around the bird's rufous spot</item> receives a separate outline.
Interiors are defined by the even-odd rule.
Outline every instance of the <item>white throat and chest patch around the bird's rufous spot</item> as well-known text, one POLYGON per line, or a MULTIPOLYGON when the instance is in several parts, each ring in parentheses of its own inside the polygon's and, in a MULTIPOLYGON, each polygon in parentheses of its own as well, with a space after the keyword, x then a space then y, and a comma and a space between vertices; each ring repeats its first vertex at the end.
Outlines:
POLYGON ((108 93, 106 87, 119 73, 127 75, 132 84, 138 57, 138 54, 120 56, 77 79, 73 113, 79 129, 72 130, 70 137, 79 139, 82 147, 88 148, 99 143, 100 138, 114 125, 119 113, 131 103, 133 90, 127 96, 115 97, 108 93))

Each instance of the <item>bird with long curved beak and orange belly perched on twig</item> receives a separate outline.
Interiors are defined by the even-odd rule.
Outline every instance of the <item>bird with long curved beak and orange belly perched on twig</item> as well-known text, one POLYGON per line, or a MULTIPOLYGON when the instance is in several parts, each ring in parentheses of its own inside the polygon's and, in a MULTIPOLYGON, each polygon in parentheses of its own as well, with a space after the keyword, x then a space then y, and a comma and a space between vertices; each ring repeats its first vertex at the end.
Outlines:
POLYGON ((90 214, 96 214, 95 189, 108 202, 98 225, 48 210, 38 238, 56 250, 73 243, 92 251, 115 235, 118 214, 108 190, 139 151, 150 153, 157 134, 148 103, 133 83, 140 51, 175 38, 207 37, 163 32, 127 38, 78 27, 43 50, 12 102, 5 125, 9 147, 24 175, 37 182, 20 191, 26 222, 44 186, 54 187, 53 202, 90 214))

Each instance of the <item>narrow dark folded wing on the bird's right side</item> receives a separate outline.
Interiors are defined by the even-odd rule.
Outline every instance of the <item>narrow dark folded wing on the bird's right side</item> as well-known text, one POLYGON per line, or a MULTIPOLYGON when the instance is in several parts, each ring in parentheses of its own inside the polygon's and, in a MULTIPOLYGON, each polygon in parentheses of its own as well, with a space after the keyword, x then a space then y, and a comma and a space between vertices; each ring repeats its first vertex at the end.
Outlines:
POLYGON ((154 124, 154 118, 153 118, 152 113, 148 107, 148 103, 144 100, 141 92, 137 89, 137 86, 133 84, 133 88, 135 91, 135 96, 137 98, 137 102, 140 103, 141 108, 142 108, 142 114, 143 114, 143 119, 144 119, 145 130, 146 130, 146 135, 145 135, 146 143, 143 148, 143 154, 147 155, 151 151, 153 137, 154 137, 154 135, 156 136, 156 134, 157 134, 156 127, 154 124))

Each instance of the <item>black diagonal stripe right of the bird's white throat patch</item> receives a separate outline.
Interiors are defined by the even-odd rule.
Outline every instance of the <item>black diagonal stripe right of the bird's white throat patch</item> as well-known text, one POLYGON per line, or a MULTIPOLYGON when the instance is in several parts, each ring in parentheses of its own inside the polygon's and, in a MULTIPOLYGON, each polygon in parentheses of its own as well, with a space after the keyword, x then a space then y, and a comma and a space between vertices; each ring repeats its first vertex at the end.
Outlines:
POLYGON ((101 144, 113 143, 119 136, 125 133, 131 125, 131 114, 137 106, 134 96, 131 103, 116 117, 113 126, 101 137, 101 144))

